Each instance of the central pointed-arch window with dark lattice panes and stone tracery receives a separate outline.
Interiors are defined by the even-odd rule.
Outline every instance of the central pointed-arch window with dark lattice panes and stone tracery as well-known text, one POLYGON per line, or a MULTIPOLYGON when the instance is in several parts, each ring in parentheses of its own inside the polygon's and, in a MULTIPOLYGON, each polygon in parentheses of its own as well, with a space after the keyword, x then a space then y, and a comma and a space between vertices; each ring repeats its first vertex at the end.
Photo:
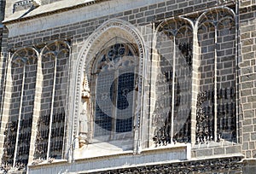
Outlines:
POLYGON ((94 139, 118 140, 132 136, 137 85, 137 49, 114 38, 96 55, 94 139))

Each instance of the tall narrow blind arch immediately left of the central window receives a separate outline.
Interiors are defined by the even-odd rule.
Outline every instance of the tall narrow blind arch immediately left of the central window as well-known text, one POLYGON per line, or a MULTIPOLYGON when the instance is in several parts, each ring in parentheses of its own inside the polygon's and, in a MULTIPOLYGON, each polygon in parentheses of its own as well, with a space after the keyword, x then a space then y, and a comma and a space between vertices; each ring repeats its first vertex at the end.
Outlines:
POLYGON ((70 51, 70 45, 62 40, 50 42, 40 51, 30 162, 64 158, 70 51))

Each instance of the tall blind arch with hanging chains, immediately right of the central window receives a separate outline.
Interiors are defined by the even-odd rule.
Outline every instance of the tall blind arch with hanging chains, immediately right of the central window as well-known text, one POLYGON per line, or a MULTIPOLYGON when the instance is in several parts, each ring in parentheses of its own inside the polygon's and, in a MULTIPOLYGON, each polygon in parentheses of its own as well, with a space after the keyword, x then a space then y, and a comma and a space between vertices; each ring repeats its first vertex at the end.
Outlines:
POLYGON ((152 139, 156 146, 190 142, 193 30, 191 20, 174 17, 161 22, 154 31, 150 79, 150 93, 154 97, 150 99, 148 133, 151 145, 152 139), (178 133, 181 130, 185 135, 178 133))

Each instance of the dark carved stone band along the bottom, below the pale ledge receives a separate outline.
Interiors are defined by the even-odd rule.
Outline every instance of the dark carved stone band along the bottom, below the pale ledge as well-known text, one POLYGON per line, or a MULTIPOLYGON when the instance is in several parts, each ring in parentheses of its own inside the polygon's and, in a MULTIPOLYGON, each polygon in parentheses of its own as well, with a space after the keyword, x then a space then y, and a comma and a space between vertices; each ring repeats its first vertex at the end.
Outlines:
POLYGON ((242 155, 211 159, 192 159, 162 164, 139 165, 102 171, 81 171, 79 173, 208 173, 219 171, 242 171, 242 155))

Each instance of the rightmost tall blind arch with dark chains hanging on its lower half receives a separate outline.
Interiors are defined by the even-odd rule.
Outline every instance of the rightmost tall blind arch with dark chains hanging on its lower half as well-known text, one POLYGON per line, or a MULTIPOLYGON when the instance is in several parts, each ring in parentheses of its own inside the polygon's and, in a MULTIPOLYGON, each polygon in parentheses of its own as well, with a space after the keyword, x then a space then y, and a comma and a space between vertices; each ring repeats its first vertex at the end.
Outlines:
POLYGON ((195 142, 236 142, 236 14, 226 7, 209 9, 196 20, 195 33, 195 71, 201 77, 195 142))

